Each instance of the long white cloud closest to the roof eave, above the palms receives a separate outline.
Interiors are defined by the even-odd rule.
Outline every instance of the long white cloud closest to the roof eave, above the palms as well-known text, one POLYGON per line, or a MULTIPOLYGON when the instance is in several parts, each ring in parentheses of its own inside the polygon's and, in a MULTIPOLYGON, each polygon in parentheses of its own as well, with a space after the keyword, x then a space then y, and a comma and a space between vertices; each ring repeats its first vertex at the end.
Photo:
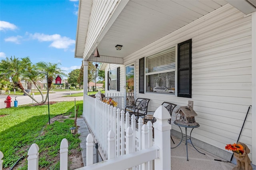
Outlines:
POLYGON ((30 38, 36 39, 40 42, 52 42, 49 46, 58 49, 67 49, 70 45, 75 44, 75 40, 68 37, 62 37, 59 34, 46 35, 46 34, 30 34, 30 38))

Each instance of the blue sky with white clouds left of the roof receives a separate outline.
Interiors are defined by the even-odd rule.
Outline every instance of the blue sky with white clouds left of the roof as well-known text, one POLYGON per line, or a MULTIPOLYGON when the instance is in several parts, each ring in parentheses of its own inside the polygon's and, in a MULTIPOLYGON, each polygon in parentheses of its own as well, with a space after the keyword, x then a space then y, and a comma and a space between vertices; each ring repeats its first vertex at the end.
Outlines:
POLYGON ((0 0, 0 59, 29 56, 32 63, 61 63, 69 73, 74 58, 78 0, 0 0))

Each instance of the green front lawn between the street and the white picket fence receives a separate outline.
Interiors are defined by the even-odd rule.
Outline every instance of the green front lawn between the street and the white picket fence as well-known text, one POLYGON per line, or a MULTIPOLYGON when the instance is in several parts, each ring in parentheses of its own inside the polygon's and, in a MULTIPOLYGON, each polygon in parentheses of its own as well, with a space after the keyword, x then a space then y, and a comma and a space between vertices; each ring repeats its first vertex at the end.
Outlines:
MULTIPOLYGON (((76 105, 80 105, 78 115, 82 115, 82 102, 76 101, 76 105)), ((74 101, 50 105, 51 118, 61 114, 74 117, 74 101)), ((40 148, 39 167, 60 169, 60 162, 54 162, 53 158, 60 152, 61 140, 68 140, 69 150, 78 148, 80 144, 79 135, 70 133, 69 128, 73 126, 74 119, 55 121, 48 125, 48 105, 0 109, 0 150, 4 154, 3 167, 12 167, 19 158, 27 155, 30 145, 36 143, 40 148)), ((27 161, 19 169, 27 169, 27 161)))

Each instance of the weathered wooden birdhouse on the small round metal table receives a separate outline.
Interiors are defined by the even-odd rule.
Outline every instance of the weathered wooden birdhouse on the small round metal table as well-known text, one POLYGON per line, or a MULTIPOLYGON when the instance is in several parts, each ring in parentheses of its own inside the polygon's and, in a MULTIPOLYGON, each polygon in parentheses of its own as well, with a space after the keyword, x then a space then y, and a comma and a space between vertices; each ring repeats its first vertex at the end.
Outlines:
POLYGON ((197 116, 197 114, 193 110, 193 101, 188 101, 187 106, 179 107, 179 109, 175 113, 177 123, 186 126, 198 125, 198 123, 195 120, 195 116, 197 116))

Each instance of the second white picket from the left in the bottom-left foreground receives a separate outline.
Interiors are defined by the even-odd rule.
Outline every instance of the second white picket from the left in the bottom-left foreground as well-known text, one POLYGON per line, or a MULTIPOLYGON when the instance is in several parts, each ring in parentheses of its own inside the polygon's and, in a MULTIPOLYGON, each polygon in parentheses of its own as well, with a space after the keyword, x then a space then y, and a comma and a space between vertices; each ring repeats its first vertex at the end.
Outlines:
POLYGON ((39 147, 33 143, 28 150, 28 170, 38 170, 39 147))

